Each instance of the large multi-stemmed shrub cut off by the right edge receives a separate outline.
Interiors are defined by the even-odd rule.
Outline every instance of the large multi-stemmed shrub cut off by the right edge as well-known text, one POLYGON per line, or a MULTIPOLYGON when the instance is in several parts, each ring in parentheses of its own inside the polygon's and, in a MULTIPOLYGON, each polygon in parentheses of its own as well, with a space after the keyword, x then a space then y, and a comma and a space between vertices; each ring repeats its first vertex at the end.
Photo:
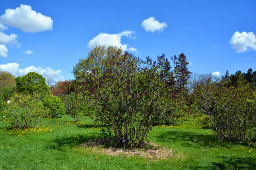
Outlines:
POLYGON ((195 97, 198 109, 211 119, 204 122, 210 124, 218 138, 256 142, 256 95, 250 84, 198 85, 195 97))

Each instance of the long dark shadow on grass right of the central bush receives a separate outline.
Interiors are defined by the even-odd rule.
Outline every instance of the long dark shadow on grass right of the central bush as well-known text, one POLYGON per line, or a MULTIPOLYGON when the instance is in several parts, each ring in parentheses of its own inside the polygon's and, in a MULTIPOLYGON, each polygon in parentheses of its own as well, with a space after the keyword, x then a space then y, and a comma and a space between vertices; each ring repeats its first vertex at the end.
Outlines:
MULTIPOLYGON (((226 147, 230 144, 220 141, 216 136, 183 131, 167 131, 155 136, 160 142, 182 142, 187 147, 226 147)), ((233 143, 234 144, 234 143, 233 143)))

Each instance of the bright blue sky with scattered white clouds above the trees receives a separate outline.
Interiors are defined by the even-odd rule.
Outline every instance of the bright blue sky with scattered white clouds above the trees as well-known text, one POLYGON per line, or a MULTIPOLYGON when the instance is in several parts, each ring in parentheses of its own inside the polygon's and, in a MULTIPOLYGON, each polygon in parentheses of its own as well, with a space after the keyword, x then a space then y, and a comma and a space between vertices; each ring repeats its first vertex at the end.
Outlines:
POLYGON ((255 8, 255 0, 1 1, 0 69, 73 79, 79 59, 106 44, 142 59, 184 53, 199 74, 256 70, 255 8))

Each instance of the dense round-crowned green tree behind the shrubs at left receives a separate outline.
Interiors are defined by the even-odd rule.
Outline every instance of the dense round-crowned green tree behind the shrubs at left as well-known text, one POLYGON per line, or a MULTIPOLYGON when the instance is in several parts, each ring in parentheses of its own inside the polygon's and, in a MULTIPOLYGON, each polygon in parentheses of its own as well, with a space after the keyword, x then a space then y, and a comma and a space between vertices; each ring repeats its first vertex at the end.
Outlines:
POLYGON ((23 94, 51 94, 45 83, 45 78, 36 72, 29 72, 25 76, 17 77, 17 91, 23 94))

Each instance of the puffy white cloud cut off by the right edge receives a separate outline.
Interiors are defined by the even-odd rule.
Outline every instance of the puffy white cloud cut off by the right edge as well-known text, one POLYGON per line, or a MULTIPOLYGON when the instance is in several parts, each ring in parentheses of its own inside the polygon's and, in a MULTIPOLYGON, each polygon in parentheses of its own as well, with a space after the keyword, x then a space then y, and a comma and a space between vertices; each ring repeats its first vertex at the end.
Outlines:
POLYGON ((237 53, 242 53, 248 49, 256 51, 256 36, 253 32, 238 32, 231 37, 229 43, 237 53))

